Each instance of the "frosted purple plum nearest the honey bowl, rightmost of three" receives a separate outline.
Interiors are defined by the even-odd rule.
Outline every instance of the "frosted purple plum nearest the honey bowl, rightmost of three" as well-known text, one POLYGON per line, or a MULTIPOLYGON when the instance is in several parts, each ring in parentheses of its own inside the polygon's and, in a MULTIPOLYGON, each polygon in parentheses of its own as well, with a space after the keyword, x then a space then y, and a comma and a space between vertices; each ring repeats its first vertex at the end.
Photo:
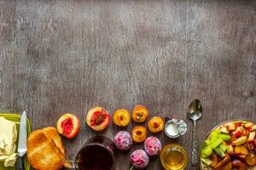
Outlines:
POLYGON ((144 148, 148 156, 157 156, 162 149, 160 139, 155 137, 148 137, 144 142, 144 148))

